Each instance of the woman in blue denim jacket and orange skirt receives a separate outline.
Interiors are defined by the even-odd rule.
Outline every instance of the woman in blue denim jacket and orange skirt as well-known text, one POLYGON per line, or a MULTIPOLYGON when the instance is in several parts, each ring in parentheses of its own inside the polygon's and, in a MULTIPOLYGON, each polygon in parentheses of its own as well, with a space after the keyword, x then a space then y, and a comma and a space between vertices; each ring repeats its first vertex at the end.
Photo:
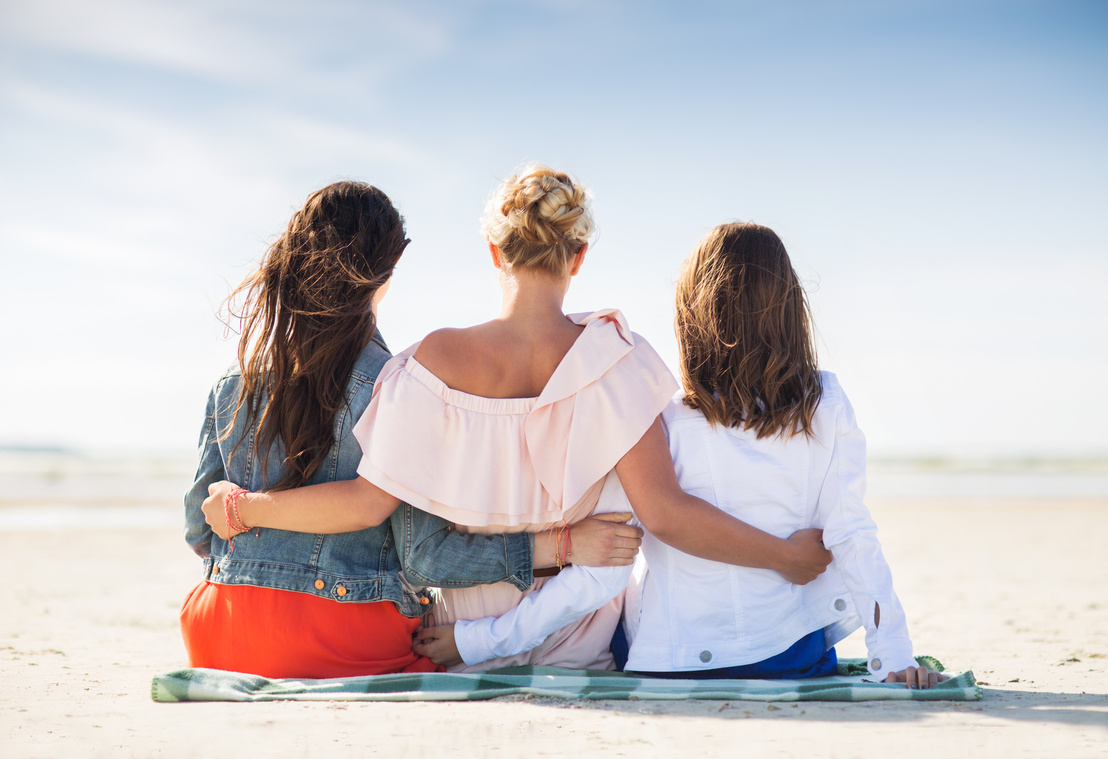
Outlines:
MULTIPOLYGON (((548 535, 463 535, 409 506, 343 534, 265 529, 229 542, 205 524, 201 505, 219 480, 279 492, 356 475, 353 422, 390 358, 378 307, 408 242, 384 193, 331 184, 233 294, 238 363, 208 398, 185 496, 185 539, 204 558, 181 613, 193 666, 268 677, 430 670, 411 652, 430 608, 424 585, 525 589, 533 564, 550 564, 548 535)), ((639 533, 615 522, 582 525, 579 561, 630 562, 639 533)))

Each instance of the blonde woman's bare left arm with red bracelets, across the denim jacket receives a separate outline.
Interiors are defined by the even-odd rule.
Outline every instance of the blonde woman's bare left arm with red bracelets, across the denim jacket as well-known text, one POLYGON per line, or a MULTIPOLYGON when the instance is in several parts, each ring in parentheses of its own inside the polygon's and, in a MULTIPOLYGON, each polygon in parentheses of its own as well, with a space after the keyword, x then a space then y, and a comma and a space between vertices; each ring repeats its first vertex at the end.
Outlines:
MULTIPOLYGON (((233 482, 216 482, 208 486, 208 496, 204 500, 207 523, 225 540, 242 532, 232 530, 224 511, 225 499, 236 489, 233 482)), ((365 478, 277 492, 247 493, 237 501, 238 517, 247 527, 320 534, 376 527, 389 519, 399 505, 400 499, 389 495, 365 478)))

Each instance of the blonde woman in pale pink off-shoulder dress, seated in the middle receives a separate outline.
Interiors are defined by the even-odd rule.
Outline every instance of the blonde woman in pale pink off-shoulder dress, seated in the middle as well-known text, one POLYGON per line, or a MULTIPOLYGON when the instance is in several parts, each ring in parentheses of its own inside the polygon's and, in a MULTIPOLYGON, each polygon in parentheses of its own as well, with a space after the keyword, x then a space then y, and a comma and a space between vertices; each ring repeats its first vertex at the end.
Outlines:
MULTIPOLYGON (((419 633, 417 652, 470 670, 612 668, 629 567, 578 566, 577 525, 626 511, 628 499, 644 526, 681 551, 801 582, 818 575, 829 557, 814 531, 778 539, 678 486, 658 422, 676 383, 623 315, 563 311, 593 229, 587 193, 568 175, 533 166, 506 180, 483 225, 500 316, 432 332, 383 369, 355 427, 357 480, 242 495, 234 530, 348 529, 403 500, 470 534, 553 532, 558 567, 573 566, 526 592, 447 591, 439 626, 419 633)), ((236 492, 220 484, 205 504, 216 529, 236 492)))

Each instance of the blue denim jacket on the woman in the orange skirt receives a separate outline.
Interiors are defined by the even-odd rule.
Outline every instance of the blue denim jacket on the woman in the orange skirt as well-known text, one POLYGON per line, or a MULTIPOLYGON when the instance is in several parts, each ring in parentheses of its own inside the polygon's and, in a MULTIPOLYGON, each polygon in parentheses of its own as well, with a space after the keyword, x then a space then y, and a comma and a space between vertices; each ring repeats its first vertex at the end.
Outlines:
MULTIPOLYGON (((335 419, 335 443, 311 483, 358 476, 361 448, 351 429, 369 404, 373 382, 390 358, 380 332, 361 351, 347 383, 347 406, 335 419)), ((207 488, 230 480, 248 490, 265 490, 279 479, 284 450, 271 448, 268 468, 256 450, 257 424, 244 417, 230 425, 242 375, 228 371, 208 396, 199 439, 196 481, 185 494, 185 541, 204 558, 204 576, 214 583, 255 585, 310 593, 340 603, 391 601, 401 614, 418 617, 431 608, 428 585, 469 587, 512 583, 531 587, 533 536, 469 535, 449 522, 402 504, 379 527, 335 535, 283 530, 252 530, 235 539, 234 551, 212 532, 201 505, 207 488), (222 438, 222 439, 220 439, 222 438), (243 444, 230 457, 235 444, 243 444)))

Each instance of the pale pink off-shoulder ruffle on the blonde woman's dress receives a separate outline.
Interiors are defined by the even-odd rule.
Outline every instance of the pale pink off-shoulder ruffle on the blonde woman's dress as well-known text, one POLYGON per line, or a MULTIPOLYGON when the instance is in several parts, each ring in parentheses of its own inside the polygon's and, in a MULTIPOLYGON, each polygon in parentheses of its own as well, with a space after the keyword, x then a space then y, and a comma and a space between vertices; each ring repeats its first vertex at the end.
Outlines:
POLYGON ((585 329, 538 398, 471 396, 417 361, 418 346, 396 356, 353 429, 358 473, 417 509, 475 527, 560 522, 595 498, 677 383, 619 311, 570 318, 585 329))

